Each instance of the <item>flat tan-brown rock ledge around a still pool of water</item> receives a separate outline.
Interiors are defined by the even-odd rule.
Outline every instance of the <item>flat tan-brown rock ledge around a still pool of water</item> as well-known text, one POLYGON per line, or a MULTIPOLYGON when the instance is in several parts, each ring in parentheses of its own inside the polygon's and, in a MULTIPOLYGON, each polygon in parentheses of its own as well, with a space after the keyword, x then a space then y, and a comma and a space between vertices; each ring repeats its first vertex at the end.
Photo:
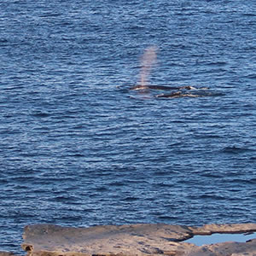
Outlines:
POLYGON ((89 228, 35 224, 25 227, 21 247, 28 256, 256 256, 256 239, 201 247, 185 242, 195 235, 254 231, 256 224, 130 224, 89 228))

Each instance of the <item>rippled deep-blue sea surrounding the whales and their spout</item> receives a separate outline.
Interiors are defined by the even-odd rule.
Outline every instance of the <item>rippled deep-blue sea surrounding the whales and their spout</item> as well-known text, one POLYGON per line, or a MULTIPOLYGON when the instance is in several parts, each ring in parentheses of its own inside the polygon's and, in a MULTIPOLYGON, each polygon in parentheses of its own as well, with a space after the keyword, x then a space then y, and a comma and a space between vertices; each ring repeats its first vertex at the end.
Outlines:
POLYGON ((0 250, 50 223, 256 222, 253 0, 2 0, 0 250), (137 84, 209 87, 160 100, 137 84))

